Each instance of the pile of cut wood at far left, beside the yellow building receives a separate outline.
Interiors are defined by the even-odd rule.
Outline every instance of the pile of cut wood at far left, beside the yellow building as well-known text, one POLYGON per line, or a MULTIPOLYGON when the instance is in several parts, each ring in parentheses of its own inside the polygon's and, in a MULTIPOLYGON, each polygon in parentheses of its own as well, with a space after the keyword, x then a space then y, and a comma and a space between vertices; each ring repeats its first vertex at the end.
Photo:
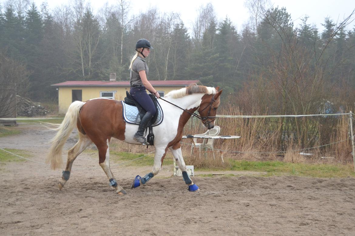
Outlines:
POLYGON ((50 113, 43 106, 34 103, 29 98, 16 95, 16 112, 18 116, 45 116, 50 113))

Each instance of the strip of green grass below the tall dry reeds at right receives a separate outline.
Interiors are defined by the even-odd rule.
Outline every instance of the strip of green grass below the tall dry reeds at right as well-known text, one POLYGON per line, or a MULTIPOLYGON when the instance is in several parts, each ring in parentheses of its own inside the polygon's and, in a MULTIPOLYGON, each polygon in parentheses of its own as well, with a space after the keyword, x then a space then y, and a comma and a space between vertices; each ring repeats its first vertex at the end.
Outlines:
POLYGON ((235 171, 262 171, 266 176, 296 175, 308 177, 355 177, 352 165, 308 164, 282 161, 229 160, 235 171))

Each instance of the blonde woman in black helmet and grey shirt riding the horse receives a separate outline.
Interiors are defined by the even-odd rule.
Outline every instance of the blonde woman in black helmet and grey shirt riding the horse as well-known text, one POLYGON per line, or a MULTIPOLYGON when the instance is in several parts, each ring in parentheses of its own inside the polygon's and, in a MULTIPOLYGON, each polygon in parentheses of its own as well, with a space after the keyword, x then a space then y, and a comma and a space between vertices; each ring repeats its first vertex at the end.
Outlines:
POLYGON ((148 66, 144 58, 149 56, 151 49, 153 47, 148 40, 138 40, 136 43, 136 54, 133 56, 130 64, 130 94, 147 111, 141 120, 137 133, 133 137, 134 140, 143 145, 146 144, 143 133, 156 112, 154 103, 146 90, 153 93, 157 98, 160 97, 157 90, 153 88, 147 79, 148 66))

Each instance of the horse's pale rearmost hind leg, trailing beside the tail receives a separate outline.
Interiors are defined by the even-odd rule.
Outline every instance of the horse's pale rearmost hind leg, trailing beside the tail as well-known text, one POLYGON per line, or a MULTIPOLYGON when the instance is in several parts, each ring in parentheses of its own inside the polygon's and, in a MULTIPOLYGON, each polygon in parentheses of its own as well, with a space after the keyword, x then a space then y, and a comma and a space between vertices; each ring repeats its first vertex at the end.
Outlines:
POLYGON ((86 135, 79 132, 79 141, 68 151, 68 159, 66 163, 65 170, 63 171, 62 178, 59 180, 59 190, 61 190, 64 184, 70 177, 71 167, 76 157, 84 151, 92 141, 86 135))

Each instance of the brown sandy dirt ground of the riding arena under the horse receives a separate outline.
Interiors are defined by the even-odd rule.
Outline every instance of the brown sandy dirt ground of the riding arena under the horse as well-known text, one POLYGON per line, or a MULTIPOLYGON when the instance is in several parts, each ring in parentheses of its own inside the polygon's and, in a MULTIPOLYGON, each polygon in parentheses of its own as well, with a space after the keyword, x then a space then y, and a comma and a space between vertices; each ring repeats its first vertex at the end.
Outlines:
MULTIPOLYGON (((30 150, 44 162, 53 132, 18 128, 23 133, 0 138, 0 148, 30 150)), ((73 165, 89 167, 98 160, 85 154, 73 165)), ((24 161, 0 169, 1 235, 355 235, 354 178, 193 177, 196 193, 164 167, 131 190, 134 176, 151 167, 116 166, 127 190, 119 197, 102 169, 73 170, 62 191, 61 171, 47 166, 24 161)))

